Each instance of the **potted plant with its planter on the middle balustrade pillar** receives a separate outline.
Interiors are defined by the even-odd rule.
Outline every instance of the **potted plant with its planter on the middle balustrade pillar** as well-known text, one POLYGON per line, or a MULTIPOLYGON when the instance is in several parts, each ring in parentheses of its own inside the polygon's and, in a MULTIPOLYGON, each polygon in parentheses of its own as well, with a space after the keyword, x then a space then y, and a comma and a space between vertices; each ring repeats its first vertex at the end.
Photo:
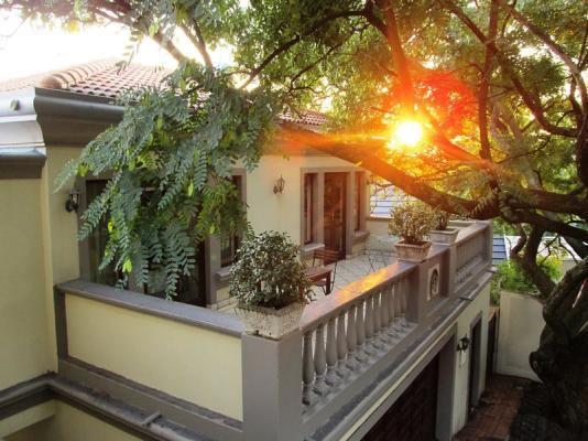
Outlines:
POLYGON ((431 248, 431 241, 426 241, 425 236, 434 225, 431 207, 420 201, 393 208, 388 230, 402 239, 394 244, 399 260, 425 260, 431 248))

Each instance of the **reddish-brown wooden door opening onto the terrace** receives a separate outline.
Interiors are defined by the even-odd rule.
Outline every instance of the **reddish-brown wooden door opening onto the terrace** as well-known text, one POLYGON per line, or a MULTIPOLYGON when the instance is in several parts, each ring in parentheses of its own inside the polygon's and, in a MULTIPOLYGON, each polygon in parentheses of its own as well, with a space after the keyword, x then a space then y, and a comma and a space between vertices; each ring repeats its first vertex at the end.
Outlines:
POLYGON ((325 173, 325 248, 345 259, 347 174, 325 173))

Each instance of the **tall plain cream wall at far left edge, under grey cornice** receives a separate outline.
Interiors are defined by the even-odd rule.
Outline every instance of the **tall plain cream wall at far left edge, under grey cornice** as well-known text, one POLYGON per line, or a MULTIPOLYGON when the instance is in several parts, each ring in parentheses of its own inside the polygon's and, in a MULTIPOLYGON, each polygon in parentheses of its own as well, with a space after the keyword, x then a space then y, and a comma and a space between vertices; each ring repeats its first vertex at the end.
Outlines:
POLYGON ((40 180, 0 180, 0 390, 52 368, 40 180))

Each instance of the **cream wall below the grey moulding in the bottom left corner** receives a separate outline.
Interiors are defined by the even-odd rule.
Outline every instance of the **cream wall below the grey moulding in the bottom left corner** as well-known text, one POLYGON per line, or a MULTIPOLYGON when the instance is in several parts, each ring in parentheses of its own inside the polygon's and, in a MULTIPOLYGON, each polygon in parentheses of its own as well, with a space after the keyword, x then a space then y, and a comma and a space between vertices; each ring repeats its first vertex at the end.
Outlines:
POLYGON ((62 401, 55 402, 56 415, 8 437, 6 441, 134 441, 115 426, 83 412, 62 401))

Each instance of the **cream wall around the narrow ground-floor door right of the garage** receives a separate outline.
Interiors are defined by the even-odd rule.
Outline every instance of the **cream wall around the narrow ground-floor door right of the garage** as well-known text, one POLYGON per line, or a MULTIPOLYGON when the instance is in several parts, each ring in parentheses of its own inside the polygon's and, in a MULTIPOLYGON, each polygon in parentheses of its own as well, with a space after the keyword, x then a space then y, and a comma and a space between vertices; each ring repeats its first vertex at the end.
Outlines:
MULTIPOLYGON (((480 365, 482 369, 486 367, 486 358, 488 353, 488 318, 490 312, 490 283, 488 283, 480 294, 464 310, 457 320, 457 340, 468 336, 471 338, 470 326, 481 312, 481 345, 480 345, 480 365)), ((466 413, 468 408, 467 397, 469 388, 469 353, 465 356, 457 354, 456 357, 456 374, 455 374, 455 389, 454 389, 454 433, 459 431, 466 423, 466 413)), ((486 376, 482 374, 482 383, 480 390, 483 390, 486 376)))

